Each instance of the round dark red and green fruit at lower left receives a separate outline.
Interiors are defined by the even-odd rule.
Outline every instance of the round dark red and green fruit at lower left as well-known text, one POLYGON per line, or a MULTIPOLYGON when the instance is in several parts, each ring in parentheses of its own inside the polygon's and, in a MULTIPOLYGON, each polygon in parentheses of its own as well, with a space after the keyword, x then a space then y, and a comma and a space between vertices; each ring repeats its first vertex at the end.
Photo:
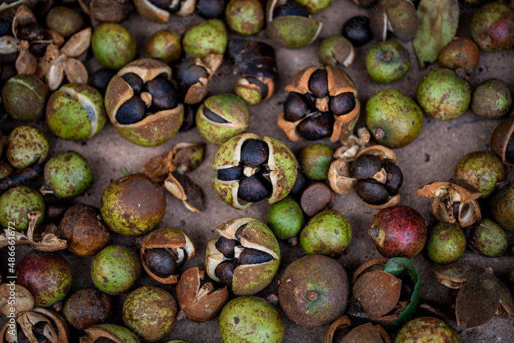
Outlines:
POLYGON ((48 307, 68 293, 71 268, 58 253, 34 250, 16 267, 16 283, 34 296, 34 306, 48 307))

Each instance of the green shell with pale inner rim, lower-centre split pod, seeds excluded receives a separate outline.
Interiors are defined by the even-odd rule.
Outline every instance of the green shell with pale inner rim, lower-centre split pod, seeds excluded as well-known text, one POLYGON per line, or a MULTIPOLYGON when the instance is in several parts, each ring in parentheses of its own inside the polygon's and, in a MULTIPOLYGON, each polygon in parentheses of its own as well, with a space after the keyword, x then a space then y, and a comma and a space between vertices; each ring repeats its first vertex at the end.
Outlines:
MULTIPOLYGON (((235 232, 240 226, 245 224, 246 227, 240 240, 241 245, 266 252, 273 259, 265 263, 238 265, 234 269, 232 281, 232 291, 236 295, 252 295, 262 291, 271 282, 280 265, 280 247, 277 238, 259 220, 253 218, 232 219, 220 225, 216 230, 225 238, 236 239, 235 232)), ((216 266, 230 259, 226 258, 216 249, 215 244, 217 240, 218 238, 212 239, 207 244, 205 264, 209 277, 220 282, 219 278, 215 275, 216 266)))

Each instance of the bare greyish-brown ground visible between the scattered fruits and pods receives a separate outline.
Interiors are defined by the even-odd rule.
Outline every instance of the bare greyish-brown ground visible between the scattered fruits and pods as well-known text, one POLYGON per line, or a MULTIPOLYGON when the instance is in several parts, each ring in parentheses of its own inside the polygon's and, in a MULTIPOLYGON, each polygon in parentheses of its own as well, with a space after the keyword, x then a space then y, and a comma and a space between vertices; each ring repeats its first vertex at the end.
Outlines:
MULTIPOLYGON (((475 10, 468 9, 464 11, 460 17, 460 25, 457 35, 470 36, 469 22, 475 10)), ((323 30, 320 39, 333 34, 340 34, 343 23, 350 17, 365 14, 363 9, 354 5, 350 0, 335 0, 333 5, 323 13, 315 15, 323 21, 323 30)), ((123 24, 133 33, 138 42, 137 57, 144 56, 144 45, 148 37, 159 29, 169 28, 172 30, 181 29, 181 33, 186 27, 190 27, 201 21, 196 16, 192 18, 180 18, 172 16, 170 23, 167 25, 159 25, 149 23, 143 20, 137 13, 132 13, 130 18, 123 24)), ((231 34, 230 38, 236 35, 231 34)), ((262 40, 272 44, 265 32, 261 32, 255 36, 256 40, 262 40)), ((278 138, 286 143, 293 151, 298 154, 299 151, 309 142, 293 143, 280 131, 277 126, 277 116, 279 115, 282 105, 281 102, 286 96, 284 86, 288 80, 299 70, 309 66, 318 64, 317 48, 320 42, 318 39, 311 46, 298 49, 287 50, 277 48, 277 60, 280 73, 280 79, 276 84, 276 92, 273 97, 266 103, 251 107, 251 123, 250 132, 254 132, 260 136, 270 136, 278 138)), ((418 80, 428 71, 436 69, 437 65, 432 65, 427 70, 420 70, 415 56, 412 54, 413 63, 407 75, 390 86, 384 87, 373 82, 365 69, 364 58, 365 53, 370 49, 373 43, 366 44, 356 49, 356 59, 351 67, 343 68, 357 84, 358 97, 361 101, 361 116, 356 127, 362 127, 365 124, 365 104, 366 101, 377 91, 382 88, 397 89, 407 96, 414 98, 415 89, 418 80)), ((409 51, 412 50, 412 44, 406 44, 409 51)), ((89 52, 89 54, 91 54, 89 52)), ((90 56, 91 57, 91 56, 90 56)), ((216 74, 211 82, 211 93, 233 92, 236 77, 232 74, 232 67, 228 64, 224 66, 228 68, 220 68, 220 72, 216 74), (223 72, 225 71, 225 72, 223 72)), ((95 71, 99 65, 93 58, 86 63, 89 71, 95 71)), ((512 49, 500 53, 481 54, 481 62, 470 78, 472 87, 476 87, 481 82, 499 78, 507 82, 511 91, 514 90, 514 52, 512 49)), ((431 201, 426 198, 418 198, 415 190, 424 184, 437 181, 448 180, 453 176, 453 170, 456 162, 462 156, 476 150, 489 150, 489 140, 494 128, 502 121, 486 120, 476 116, 468 110, 461 118, 450 122, 435 121, 425 117, 423 131, 421 131, 418 139, 407 147, 396 149, 398 155, 397 165, 403 172, 404 182, 400 189, 402 205, 409 205, 417 209, 423 215, 430 225, 435 224, 435 219, 431 212, 431 201)), ((140 172, 144 163, 165 151, 169 151, 178 142, 202 142, 204 141, 198 134, 196 129, 189 132, 179 132, 170 141, 161 146, 154 148, 144 148, 125 141, 116 131, 111 123, 107 123, 105 128, 96 137, 83 142, 66 142, 56 139, 44 121, 33 123, 46 132, 50 141, 50 156, 55 156, 66 150, 75 150, 87 158, 91 169, 93 169, 95 182, 88 192, 73 200, 74 203, 84 202, 90 205, 99 206, 100 198, 104 188, 113 180, 123 176, 123 171, 129 173, 140 172)), ((4 134, 8 134, 12 128, 20 125, 18 122, 8 120, 0 123, 0 129, 4 134)), ((323 142, 328 143, 328 142, 323 142)), ((332 144, 334 148, 339 144, 332 144)), ((244 211, 238 211, 225 205, 215 194, 211 184, 211 178, 214 172, 211 169, 212 158, 217 150, 214 145, 207 144, 206 156, 203 164, 196 169, 191 177, 201 184, 205 196, 205 209, 200 214, 194 214, 188 211, 179 200, 175 199, 171 194, 166 192, 167 212, 164 219, 158 227, 174 226, 186 233, 196 246, 196 256, 189 260, 183 270, 192 266, 199 266, 200 269, 205 268, 205 252, 206 243, 217 237, 215 228, 233 218, 237 217, 253 217, 261 221, 266 220, 266 214, 269 204, 266 202, 256 203, 244 211)), ((507 172, 510 172, 508 170, 507 172)), ((507 181, 514 179, 512 173, 508 176, 507 181)), ((36 180, 34 186, 39 187, 42 180, 36 180)), ((51 196, 45 196, 45 200, 51 202, 56 200, 51 196)), ((368 236, 368 229, 375 214, 375 209, 365 206, 351 192, 347 195, 337 195, 334 209, 343 213, 352 225, 353 238, 349 246, 349 251, 338 259, 347 273, 352 275, 355 269, 365 261, 379 257, 380 254, 368 236)), ((511 244, 514 243, 514 234, 507 233, 507 237, 511 244)), ((113 242, 117 244, 125 244, 133 249, 137 249, 136 239, 113 234, 113 242)), ((278 280, 283 274, 285 268, 295 259, 303 256, 298 246, 291 247, 286 242, 280 242, 282 261, 277 276, 273 279, 269 287, 259 293, 260 296, 267 296, 271 293, 276 294, 278 289, 278 280)), ((28 250, 24 247, 16 249, 17 262, 25 255, 28 250)), ((0 258, 5 260, 6 251, 0 251, 0 258)), ((94 287, 93 281, 89 276, 90 264, 93 257, 80 258, 72 254, 65 255, 65 258, 72 266, 73 282, 68 294, 75 293, 83 288, 94 287)), ((420 299, 430 300, 440 304, 447 304, 447 288, 439 284, 434 277, 432 263, 425 253, 421 253, 414 257, 412 261, 417 265, 420 274, 421 292, 420 299)), ((482 268, 491 266, 494 274, 501 280, 505 281, 509 289, 512 290, 512 283, 508 280, 508 275, 514 270, 514 258, 512 256, 504 256, 500 258, 485 258, 478 256, 467 250, 463 262, 473 263, 482 268)), ((0 273, 6 275, 6 263, 0 266, 0 273)), ((144 274, 144 273, 143 273, 144 274)), ((147 275, 136 283, 136 287, 142 285, 156 284, 147 275)), ((160 285, 164 290, 174 295, 175 289, 170 285, 160 285)), ((114 311, 109 322, 123 324, 121 317, 121 307, 127 294, 111 296, 114 303, 114 311)), ((328 326, 319 328, 305 328, 296 325, 289 320, 281 311, 285 321, 284 342, 321 342, 323 334, 328 326)), ((352 318, 351 318, 352 319, 352 318)), ((5 317, 0 318, 3 322, 5 317)), ((74 332, 72 341, 78 341, 79 333, 74 332)), ((392 334, 394 338, 394 333, 392 334)), ((514 320, 504 320, 499 317, 493 318, 487 325, 468 330, 461 334, 463 342, 479 343, 479 342, 514 342, 514 320)), ((218 333, 218 318, 209 322, 197 324, 189 320, 183 320, 177 323, 175 330, 161 342, 170 339, 183 339, 191 343, 193 342, 221 342, 218 333)))

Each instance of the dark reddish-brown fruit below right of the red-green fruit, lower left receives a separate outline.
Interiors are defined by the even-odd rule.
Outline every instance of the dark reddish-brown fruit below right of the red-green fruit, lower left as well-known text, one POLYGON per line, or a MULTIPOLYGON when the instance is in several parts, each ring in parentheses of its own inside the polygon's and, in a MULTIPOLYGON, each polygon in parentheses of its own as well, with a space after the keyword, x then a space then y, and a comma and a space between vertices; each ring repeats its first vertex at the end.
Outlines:
POLYGON ((105 293, 87 288, 70 296, 64 303, 63 311, 72 327, 85 330, 107 320, 111 314, 111 300, 105 293))

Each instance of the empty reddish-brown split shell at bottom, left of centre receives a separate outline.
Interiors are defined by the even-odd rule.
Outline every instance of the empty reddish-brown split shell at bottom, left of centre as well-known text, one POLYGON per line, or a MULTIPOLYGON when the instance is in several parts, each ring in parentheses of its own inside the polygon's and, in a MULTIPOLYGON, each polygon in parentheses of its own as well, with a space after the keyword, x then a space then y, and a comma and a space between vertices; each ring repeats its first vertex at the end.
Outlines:
POLYGON ((187 318, 203 323, 214 318, 227 303, 227 287, 215 290, 212 283, 207 282, 200 288, 200 279, 203 273, 200 274, 198 267, 182 273, 176 288, 178 320, 187 318))

